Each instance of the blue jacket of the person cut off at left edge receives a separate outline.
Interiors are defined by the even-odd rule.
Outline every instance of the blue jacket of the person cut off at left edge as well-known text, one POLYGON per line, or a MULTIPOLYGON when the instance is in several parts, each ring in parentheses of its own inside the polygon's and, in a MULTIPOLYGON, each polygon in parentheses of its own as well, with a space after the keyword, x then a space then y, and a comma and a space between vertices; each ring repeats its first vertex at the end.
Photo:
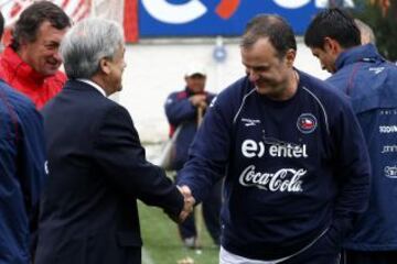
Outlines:
POLYGON ((46 179, 43 120, 0 80, 0 263, 31 263, 39 197, 46 179))

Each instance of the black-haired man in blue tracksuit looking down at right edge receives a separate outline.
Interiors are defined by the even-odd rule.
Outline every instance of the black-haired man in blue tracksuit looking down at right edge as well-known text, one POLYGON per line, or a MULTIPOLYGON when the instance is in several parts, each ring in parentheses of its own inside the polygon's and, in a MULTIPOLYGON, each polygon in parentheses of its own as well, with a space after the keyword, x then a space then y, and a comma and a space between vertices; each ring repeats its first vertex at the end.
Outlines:
MULTIPOLYGON (((361 44, 356 22, 340 9, 321 11, 304 43, 346 94, 363 129, 372 164, 368 209, 344 243, 347 264, 397 263, 397 67, 373 44, 361 44)), ((351 139, 351 138, 348 138, 351 139)))

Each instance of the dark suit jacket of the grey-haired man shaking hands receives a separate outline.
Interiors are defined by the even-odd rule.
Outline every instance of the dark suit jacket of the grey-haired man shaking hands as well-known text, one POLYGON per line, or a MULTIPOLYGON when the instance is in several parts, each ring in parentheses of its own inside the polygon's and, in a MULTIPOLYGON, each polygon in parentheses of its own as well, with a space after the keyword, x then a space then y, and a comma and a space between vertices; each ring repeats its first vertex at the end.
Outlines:
POLYGON ((50 175, 35 264, 141 263, 137 198, 175 217, 183 197, 146 161, 129 113, 69 80, 43 116, 50 175))

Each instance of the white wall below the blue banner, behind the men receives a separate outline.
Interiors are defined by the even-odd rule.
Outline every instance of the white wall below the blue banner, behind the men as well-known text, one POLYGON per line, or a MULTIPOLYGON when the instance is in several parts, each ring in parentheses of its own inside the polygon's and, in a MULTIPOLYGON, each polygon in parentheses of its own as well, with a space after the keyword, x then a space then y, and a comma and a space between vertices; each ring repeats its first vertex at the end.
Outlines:
MULTIPOLYGON (((142 142, 167 139, 163 103, 171 91, 183 89, 184 69, 190 63, 207 66, 206 89, 214 92, 244 76, 238 40, 224 42, 227 52, 224 63, 216 63, 213 58, 215 38, 151 40, 127 46, 124 89, 114 98, 131 113, 142 142)), ((294 65, 319 78, 328 76, 300 37, 294 65)))

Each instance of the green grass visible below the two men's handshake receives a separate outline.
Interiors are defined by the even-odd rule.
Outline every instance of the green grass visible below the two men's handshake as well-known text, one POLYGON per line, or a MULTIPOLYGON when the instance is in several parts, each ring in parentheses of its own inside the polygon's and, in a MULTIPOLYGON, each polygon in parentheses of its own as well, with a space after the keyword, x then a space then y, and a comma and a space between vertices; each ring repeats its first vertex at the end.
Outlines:
MULTIPOLYGON (((202 253, 183 246, 174 223, 162 209, 148 207, 139 202, 139 218, 143 239, 143 249, 150 256, 151 264, 176 264, 190 256, 194 264, 218 263, 218 248, 212 242, 206 229, 202 229, 202 253)), ((142 260, 142 264, 149 264, 142 260)))

